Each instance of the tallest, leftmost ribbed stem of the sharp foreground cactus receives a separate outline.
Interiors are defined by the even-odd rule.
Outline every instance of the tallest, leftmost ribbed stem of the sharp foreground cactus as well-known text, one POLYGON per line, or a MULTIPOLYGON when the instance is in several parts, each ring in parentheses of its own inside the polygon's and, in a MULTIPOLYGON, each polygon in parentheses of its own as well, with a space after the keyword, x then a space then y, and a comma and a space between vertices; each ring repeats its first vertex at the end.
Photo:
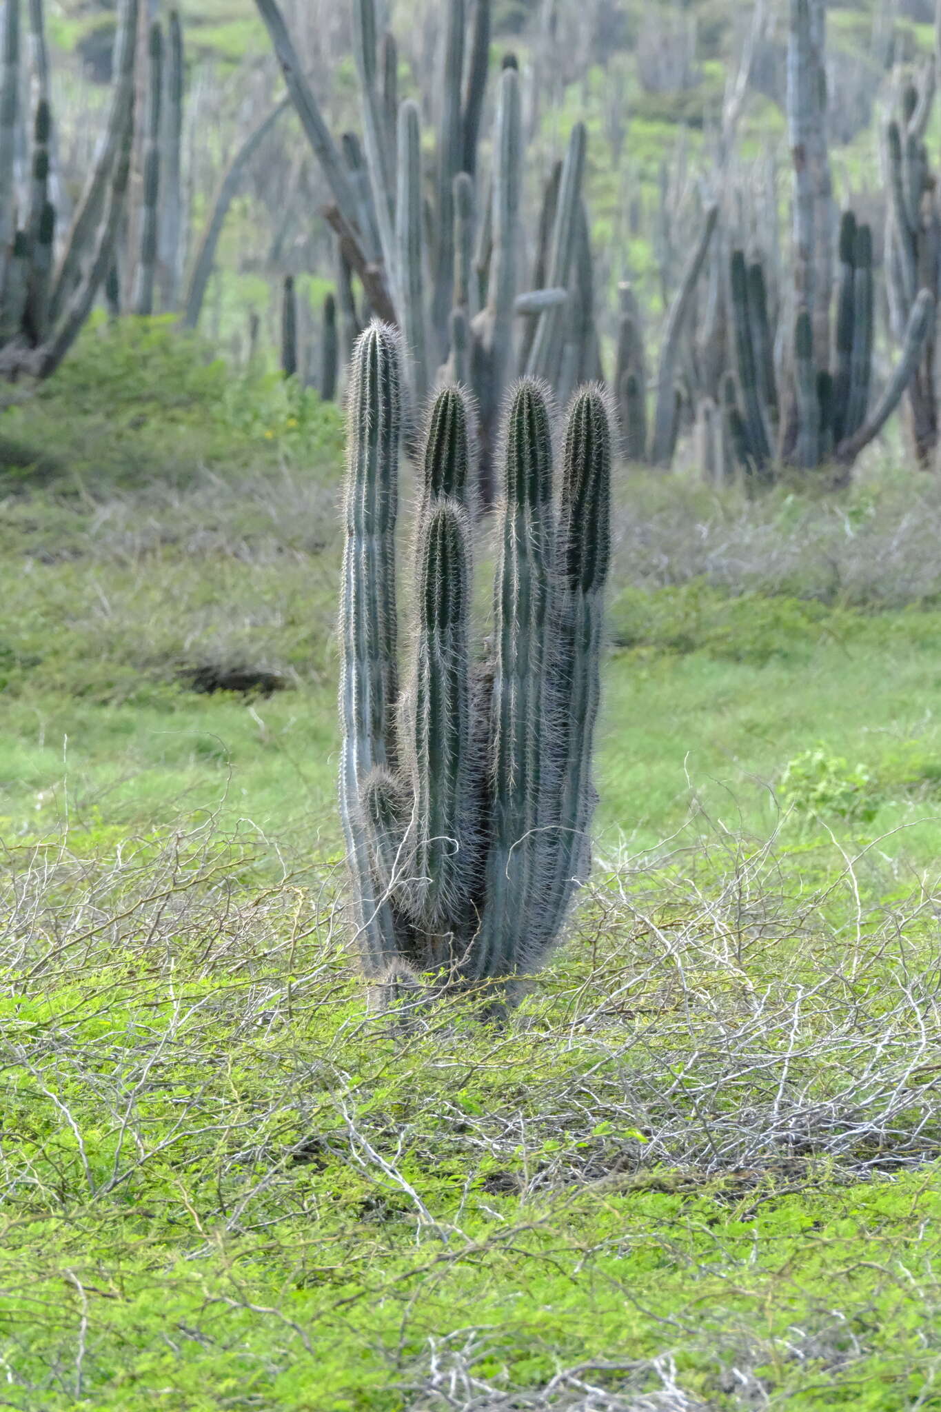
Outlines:
POLYGON ((340 816, 356 881, 363 969, 371 977, 382 976, 401 955, 392 908, 375 885, 361 815, 367 778, 377 767, 394 770, 396 755, 399 436, 398 339, 374 321, 357 340, 350 374, 340 599, 340 816))

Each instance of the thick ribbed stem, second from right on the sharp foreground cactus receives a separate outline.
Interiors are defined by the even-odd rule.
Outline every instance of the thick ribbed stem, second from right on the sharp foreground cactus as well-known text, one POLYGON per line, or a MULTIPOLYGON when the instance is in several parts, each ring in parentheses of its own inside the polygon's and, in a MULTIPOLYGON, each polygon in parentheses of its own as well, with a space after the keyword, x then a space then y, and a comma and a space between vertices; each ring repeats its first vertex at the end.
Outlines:
POLYGON ((543 832, 553 582, 552 419, 542 385, 523 378, 506 418, 498 524, 491 829, 485 905, 471 957, 478 979, 509 976, 525 939, 545 936, 546 850, 553 851, 543 832))

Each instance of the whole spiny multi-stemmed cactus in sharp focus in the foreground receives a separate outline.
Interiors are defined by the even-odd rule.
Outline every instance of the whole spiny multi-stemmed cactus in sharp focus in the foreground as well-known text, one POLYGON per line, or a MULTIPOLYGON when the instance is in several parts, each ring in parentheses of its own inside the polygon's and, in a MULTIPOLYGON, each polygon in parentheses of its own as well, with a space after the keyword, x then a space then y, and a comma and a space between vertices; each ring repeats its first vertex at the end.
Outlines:
POLYGON ((471 634, 475 438, 464 391, 427 418, 399 686, 395 535, 401 342, 374 321, 348 383, 340 644, 340 812, 374 1001, 430 973, 436 991, 518 993, 588 870, 611 429, 597 385, 573 397, 561 489, 538 378, 502 433, 490 655, 471 634))

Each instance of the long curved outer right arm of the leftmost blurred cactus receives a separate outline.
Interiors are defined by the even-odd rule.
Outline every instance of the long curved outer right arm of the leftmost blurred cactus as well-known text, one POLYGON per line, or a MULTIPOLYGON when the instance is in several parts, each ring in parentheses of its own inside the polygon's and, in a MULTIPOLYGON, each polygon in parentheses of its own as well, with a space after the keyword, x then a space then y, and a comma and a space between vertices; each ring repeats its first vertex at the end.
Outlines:
MULTIPOLYGON (((133 123, 134 112, 134 58, 137 54, 137 21, 140 0, 123 0, 119 8, 117 34, 114 38, 114 82, 111 102, 95 168, 82 192, 82 199, 72 217, 72 226, 65 241, 62 258, 55 271, 49 294, 49 322, 54 323, 69 301, 79 282, 79 270, 89 249, 95 244, 95 232, 100 229, 102 208, 110 201, 114 167, 121 158, 124 136, 133 123)), ((123 199, 123 198, 121 198, 123 199)))

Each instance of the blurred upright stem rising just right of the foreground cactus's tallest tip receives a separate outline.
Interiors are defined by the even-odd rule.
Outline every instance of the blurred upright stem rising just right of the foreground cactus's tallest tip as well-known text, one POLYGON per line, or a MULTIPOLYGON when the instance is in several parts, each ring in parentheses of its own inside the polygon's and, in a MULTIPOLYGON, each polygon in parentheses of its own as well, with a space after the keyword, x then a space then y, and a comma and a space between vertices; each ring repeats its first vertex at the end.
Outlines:
POLYGON ((399 319, 405 340, 408 390, 419 409, 427 395, 427 333, 422 265, 422 154, 418 103, 399 109, 399 161, 395 225, 401 273, 399 319))

